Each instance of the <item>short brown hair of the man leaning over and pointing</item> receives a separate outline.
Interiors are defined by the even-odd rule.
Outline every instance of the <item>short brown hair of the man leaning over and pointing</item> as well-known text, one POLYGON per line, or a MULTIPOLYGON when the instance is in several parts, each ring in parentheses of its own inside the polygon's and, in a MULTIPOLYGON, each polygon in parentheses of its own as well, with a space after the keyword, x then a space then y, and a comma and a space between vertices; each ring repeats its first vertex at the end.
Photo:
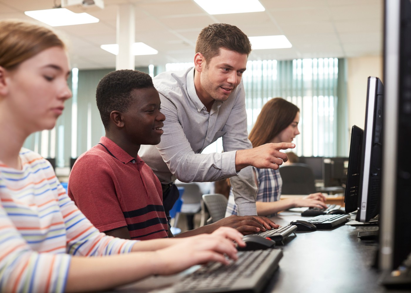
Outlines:
POLYGON ((213 23, 204 27, 196 42, 196 53, 203 54, 210 60, 219 54, 220 48, 247 54, 251 52, 251 43, 238 27, 226 23, 213 23))

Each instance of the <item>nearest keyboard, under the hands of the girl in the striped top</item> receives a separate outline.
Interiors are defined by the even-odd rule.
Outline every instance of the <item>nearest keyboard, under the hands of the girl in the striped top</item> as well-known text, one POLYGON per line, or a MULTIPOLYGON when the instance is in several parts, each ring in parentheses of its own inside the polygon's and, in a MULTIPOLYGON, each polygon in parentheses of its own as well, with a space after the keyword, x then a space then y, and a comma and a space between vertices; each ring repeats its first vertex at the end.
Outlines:
POLYGON ((282 250, 239 251, 229 265, 208 263, 173 286, 173 292, 261 292, 282 258, 282 250))

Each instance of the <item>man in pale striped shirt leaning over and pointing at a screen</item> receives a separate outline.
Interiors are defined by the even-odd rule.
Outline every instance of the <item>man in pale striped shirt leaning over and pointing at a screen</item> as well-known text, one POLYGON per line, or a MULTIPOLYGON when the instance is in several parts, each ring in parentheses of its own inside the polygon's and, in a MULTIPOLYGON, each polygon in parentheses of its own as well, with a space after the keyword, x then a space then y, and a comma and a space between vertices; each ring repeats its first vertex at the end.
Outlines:
POLYGON ((139 156, 163 186, 168 213, 178 198, 173 185, 230 178, 238 215, 256 215, 252 167, 278 169, 291 143, 252 149, 247 136, 245 91, 241 81, 251 52, 248 37, 233 25, 215 23, 199 34, 194 67, 153 79, 166 116, 161 142, 141 146, 139 156), (202 154, 222 137, 224 153, 202 154))

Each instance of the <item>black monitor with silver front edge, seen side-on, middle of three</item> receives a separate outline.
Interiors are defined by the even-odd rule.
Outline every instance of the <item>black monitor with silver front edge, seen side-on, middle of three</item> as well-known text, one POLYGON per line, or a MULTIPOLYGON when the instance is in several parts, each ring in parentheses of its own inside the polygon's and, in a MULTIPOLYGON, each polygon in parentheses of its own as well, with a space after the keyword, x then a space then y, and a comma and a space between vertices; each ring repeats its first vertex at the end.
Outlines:
POLYGON ((381 80, 369 77, 356 217, 359 222, 368 222, 380 211, 383 96, 381 80))

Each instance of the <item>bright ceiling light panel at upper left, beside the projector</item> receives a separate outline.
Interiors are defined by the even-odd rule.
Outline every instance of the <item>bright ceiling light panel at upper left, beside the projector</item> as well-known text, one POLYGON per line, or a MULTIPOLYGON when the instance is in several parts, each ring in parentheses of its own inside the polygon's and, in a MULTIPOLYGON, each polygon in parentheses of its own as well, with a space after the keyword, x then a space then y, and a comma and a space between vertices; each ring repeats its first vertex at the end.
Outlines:
POLYGON ((100 21, 88 13, 74 13, 65 8, 25 11, 24 14, 51 26, 98 23, 100 21))

